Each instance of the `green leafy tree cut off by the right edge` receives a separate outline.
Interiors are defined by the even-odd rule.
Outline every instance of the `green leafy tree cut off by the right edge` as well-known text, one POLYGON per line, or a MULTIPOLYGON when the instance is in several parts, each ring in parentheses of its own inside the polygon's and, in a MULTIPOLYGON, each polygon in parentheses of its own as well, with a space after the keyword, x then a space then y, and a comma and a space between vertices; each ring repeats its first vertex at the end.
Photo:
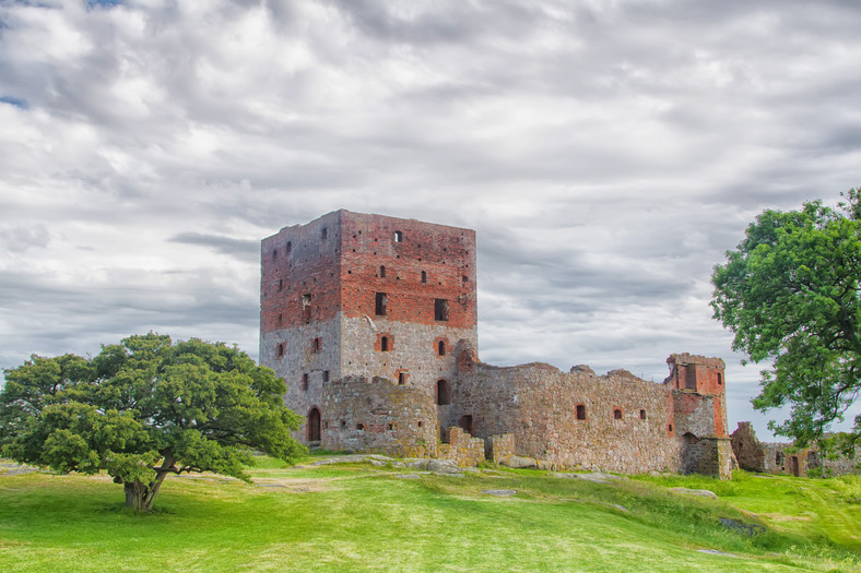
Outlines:
MULTIPOLYGON (((861 202, 859 190, 833 208, 765 211, 715 267, 715 318, 733 331, 733 349, 771 360, 753 401, 762 411, 790 407, 769 422, 799 444, 823 442, 861 392, 861 202)), ((861 416, 842 445, 861 434, 861 416)))

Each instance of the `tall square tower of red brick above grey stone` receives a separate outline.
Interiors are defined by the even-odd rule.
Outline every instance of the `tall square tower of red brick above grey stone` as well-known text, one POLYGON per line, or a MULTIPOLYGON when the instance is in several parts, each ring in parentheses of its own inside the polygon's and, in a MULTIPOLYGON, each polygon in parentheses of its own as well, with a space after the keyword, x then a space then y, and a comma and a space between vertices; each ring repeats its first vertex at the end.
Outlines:
POLYGON ((457 344, 477 348, 475 276, 473 230, 415 219, 341 210, 263 239, 260 363, 307 417, 298 438, 346 427, 323 407, 335 380, 447 399, 457 344))

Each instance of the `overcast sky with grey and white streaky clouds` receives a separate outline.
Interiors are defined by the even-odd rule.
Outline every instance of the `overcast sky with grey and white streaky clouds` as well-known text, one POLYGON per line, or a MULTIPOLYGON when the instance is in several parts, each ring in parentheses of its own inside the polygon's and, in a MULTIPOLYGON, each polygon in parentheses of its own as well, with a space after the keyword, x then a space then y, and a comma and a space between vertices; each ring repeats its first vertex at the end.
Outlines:
POLYGON ((0 367, 151 330, 257 356, 259 241, 337 208, 474 228, 480 355, 758 367, 709 275, 861 184, 861 4, 0 0, 0 367))

